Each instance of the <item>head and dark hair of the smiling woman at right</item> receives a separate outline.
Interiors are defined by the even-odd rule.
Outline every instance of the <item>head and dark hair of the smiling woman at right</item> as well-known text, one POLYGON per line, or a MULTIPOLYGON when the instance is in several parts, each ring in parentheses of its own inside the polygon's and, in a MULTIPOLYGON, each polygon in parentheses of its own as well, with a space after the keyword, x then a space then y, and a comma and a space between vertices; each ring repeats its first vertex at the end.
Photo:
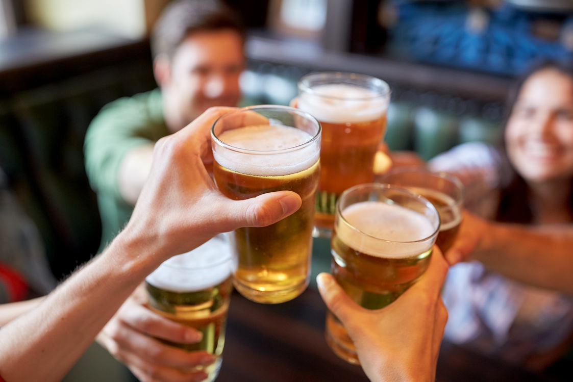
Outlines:
POLYGON ((510 106, 496 220, 572 223, 573 67, 536 66, 517 83, 510 106))

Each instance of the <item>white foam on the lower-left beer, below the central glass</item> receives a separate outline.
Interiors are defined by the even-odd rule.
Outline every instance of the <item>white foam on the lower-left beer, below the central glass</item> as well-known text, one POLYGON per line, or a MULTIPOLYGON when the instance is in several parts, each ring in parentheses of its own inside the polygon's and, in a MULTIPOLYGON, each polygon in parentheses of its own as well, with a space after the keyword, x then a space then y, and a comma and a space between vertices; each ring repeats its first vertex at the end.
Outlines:
POLYGON ((147 276, 156 288, 176 293, 211 288, 231 275, 229 243, 215 237, 193 251, 167 259, 147 276), (213 266, 229 259, 223 265, 213 266))

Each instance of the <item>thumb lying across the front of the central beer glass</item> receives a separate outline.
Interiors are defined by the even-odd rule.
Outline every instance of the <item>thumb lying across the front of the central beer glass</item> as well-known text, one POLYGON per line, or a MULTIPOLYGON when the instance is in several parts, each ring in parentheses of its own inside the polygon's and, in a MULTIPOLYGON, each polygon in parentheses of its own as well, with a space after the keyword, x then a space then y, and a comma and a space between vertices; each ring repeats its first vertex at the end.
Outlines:
POLYGON ((233 202, 230 211, 236 211, 239 227, 266 227, 296 212, 303 201, 292 191, 277 191, 256 198, 233 202))

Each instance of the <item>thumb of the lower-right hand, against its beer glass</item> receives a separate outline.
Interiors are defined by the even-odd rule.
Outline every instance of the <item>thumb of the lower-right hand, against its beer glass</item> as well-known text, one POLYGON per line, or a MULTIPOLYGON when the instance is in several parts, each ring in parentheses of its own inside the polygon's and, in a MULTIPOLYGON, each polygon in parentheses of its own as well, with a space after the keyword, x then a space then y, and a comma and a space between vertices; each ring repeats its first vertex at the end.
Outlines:
POLYGON ((347 320, 354 316, 356 310, 360 309, 360 306, 344 292, 344 289, 338 285, 331 274, 320 273, 316 277, 316 283, 324 304, 346 325, 347 320))

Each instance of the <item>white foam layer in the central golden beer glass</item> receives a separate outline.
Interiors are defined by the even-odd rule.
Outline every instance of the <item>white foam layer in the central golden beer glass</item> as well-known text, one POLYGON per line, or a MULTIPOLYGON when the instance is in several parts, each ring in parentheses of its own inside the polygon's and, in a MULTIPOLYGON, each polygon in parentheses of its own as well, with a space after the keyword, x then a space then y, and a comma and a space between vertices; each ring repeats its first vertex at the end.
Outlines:
POLYGON ((318 143, 295 151, 282 150, 307 143, 312 136, 300 129, 284 125, 256 125, 227 130, 219 140, 236 148, 261 151, 241 153, 215 147, 213 156, 217 163, 231 171, 246 175, 282 176, 307 170, 319 159, 318 143), (265 153, 262 153, 265 151, 265 153), (276 154, 268 153, 277 151, 276 154))

